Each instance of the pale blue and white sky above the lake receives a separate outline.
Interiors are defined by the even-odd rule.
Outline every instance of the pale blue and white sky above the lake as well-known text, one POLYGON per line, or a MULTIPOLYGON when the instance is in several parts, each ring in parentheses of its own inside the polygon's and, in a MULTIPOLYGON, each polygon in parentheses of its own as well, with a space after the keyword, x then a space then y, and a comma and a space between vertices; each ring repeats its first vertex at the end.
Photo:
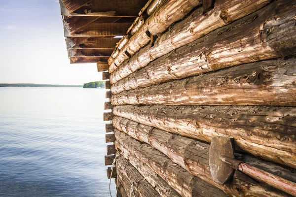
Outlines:
POLYGON ((0 0, 0 83, 83 85, 96 64, 71 64, 58 0, 0 0))

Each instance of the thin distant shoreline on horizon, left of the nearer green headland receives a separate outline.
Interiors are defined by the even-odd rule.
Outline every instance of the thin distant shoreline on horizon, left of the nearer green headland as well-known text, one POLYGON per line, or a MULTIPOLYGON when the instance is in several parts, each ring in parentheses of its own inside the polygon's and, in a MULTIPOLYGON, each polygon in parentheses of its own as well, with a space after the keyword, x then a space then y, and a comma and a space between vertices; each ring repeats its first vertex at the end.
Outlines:
POLYGON ((53 87, 53 88, 82 88, 82 85, 53 85, 53 84, 34 84, 34 83, 0 83, 0 88, 26 88, 26 87, 40 87, 40 88, 46 88, 46 87, 53 87))

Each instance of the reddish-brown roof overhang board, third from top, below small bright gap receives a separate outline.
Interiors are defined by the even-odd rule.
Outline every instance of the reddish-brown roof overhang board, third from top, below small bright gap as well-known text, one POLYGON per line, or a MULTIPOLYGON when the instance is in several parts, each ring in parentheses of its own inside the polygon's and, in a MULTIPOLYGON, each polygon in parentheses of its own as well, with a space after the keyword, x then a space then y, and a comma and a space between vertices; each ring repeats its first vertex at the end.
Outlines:
POLYGON ((66 37, 67 49, 114 49, 120 38, 66 37))

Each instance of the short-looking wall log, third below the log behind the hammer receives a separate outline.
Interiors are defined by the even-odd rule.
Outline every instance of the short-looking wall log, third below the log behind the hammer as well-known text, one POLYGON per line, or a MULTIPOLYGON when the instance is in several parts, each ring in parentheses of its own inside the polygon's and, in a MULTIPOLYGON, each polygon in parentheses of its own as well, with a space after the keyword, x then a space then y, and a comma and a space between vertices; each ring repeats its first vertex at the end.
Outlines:
POLYGON ((117 158, 117 166, 123 170, 128 179, 134 182, 134 188, 142 197, 160 197, 151 184, 123 156, 117 158))

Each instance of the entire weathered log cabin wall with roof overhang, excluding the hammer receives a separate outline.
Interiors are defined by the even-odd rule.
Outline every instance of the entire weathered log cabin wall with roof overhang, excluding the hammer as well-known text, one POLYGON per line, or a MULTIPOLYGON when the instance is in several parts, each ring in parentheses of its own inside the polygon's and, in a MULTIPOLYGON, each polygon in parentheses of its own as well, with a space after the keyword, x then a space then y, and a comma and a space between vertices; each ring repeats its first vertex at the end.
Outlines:
POLYGON ((239 170, 219 184, 209 161, 231 138, 296 183, 296 1, 123 1, 60 2, 70 61, 104 71, 117 196, 296 196, 239 170))

